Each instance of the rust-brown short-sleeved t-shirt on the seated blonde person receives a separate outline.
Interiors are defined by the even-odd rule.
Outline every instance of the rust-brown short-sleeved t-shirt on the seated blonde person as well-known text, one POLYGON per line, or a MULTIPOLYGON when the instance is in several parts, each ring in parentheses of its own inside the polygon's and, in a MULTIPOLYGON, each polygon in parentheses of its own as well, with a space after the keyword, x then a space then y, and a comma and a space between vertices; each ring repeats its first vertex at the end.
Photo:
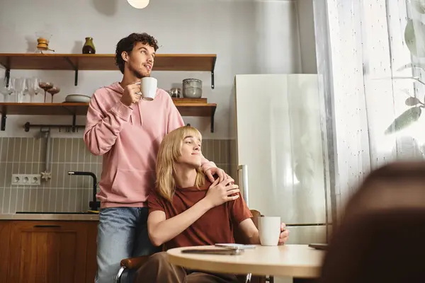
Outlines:
MULTIPOLYGON (((160 210, 165 212, 166 219, 181 214, 202 200, 210 185, 210 181, 205 180, 205 184, 200 188, 177 187, 172 204, 156 192, 152 192, 148 198, 149 213, 160 210)), ((237 200, 225 202, 200 216, 188 229, 166 242, 165 250, 188 246, 210 246, 216 243, 234 243, 234 227, 250 217, 252 214, 239 194, 237 200)))

